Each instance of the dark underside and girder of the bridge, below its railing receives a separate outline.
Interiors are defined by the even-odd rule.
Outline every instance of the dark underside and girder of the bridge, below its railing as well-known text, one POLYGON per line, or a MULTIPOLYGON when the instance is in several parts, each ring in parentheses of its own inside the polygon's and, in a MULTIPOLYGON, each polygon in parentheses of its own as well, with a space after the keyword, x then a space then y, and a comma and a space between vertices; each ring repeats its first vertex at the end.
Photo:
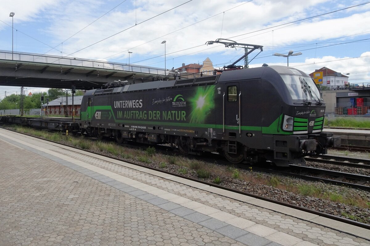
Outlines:
POLYGON ((75 85, 77 90, 90 90, 115 80, 143 83, 166 78, 134 71, 0 59, 0 86, 71 89, 75 85))

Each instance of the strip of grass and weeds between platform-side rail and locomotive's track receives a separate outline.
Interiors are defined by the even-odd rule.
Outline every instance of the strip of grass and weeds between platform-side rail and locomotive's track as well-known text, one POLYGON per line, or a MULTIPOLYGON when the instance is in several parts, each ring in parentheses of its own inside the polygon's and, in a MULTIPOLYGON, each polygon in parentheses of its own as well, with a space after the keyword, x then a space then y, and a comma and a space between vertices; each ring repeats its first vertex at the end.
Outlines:
POLYGON ((121 157, 123 159, 131 159, 154 165, 157 164, 156 167, 161 169, 166 169, 169 165, 172 165, 173 167, 171 168, 171 171, 177 171, 177 173, 182 175, 194 174, 193 176, 197 176, 200 179, 212 179, 215 184, 222 184, 223 180, 226 179, 235 179, 244 181, 245 186, 249 186, 250 183, 262 184, 295 194, 317 197, 333 202, 341 202, 343 204, 357 207, 370 208, 369 200, 351 193, 351 190, 346 187, 343 187, 340 191, 333 191, 330 189, 330 186, 324 186, 322 184, 317 186, 316 184, 311 184, 309 182, 286 181, 283 177, 261 174, 253 171, 252 167, 249 167, 249 170, 240 170, 233 166, 209 164, 199 160, 191 160, 183 156, 159 154, 156 153, 154 147, 148 147, 145 150, 141 150, 120 146, 115 142, 93 141, 83 136, 66 136, 62 133, 50 133, 17 125, 13 125, 12 128, 18 132, 24 132, 54 142, 64 142, 77 148, 90 150, 92 152, 102 152, 112 156, 121 157))

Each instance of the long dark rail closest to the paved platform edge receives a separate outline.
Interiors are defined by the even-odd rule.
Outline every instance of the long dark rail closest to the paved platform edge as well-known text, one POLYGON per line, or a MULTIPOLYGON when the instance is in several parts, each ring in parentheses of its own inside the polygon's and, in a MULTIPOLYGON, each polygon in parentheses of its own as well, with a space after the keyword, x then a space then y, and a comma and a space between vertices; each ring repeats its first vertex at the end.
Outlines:
MULTIPOLYGON (((7 129, 7 130, 9 130, 9 129, 7 129)), ((10 131, 13 131, 13 130, 10 130, 10 131)), ((16 132, 16 131, 14 131, 14 132, 16 132)), ((23 134, 23 133, 21 133, 21 134, 23 134)), ((24 135, 28 135, 28 134, 24 134, 24 135)), ((32 135, 28 135, 28 136, 32 136, 32 135)), ((32 137, 35 137, 35 136, 32 136, 32 137)), ((35 137, 35 138, 39 138, 39 137, 35 137)), ((40 139, 43 139, 43 138, 40 138, 40 139)), ((43 139, 43 140, 45 140, 45 139, 43 139)), ((47 141, 49 141, 49 140, 47 140, 47 141)), ((58 142, 54 142, 54 141, 50 141, 50 142, 57 143, 58 145, 64 145, 64 146, 70 147, 69 145, 65 145, 63 143, 58 143, 58 142)), ((74 148, 76 148, 76 147, 74 147, 74 148)), ((195 179, 195 178, 192 178, 192 177, 184 176, 184 175, 181 175, 181 174, 178 174, 178 173, 173 173, 173 172, 165 171, 165 170, 162 170, 162 169, 159 169, 159 168, 154 168, 154 167, 151 167, 151 166, 147 166, 145 164, 141 164, 141 163, 137 163, 137 162, 131 162, 131 161, 128 161, 128 160, 122 160, 122 159, 117 158, 117 157, 112 157, 112 156, 104 155, 104 154, 97 153, 97 152, 94 152, 94 151, 89 151, 89 150, 80 149, 80 148, 76 148, 76 149, 83 150, 83 151, 90 152, 90 153, 94 153, 94 154, 100 155, 102 157, 109 157, 109 158, 112 158, 112 159, 125 161, 127 163, 135 164, 137 166, 141 166, 141 167, 145 167, 145 168, 148 168, 148 169, 160 171, 162 173, 171 174, 173 176, 182 177, 182 178, 187 179, 187 180, 196 181, 196 182, 199 182, 199 183, 203 183, 205 185, 208 185, 208 186, 221 188, 223 190, 228 190, 228 191, 232 191, 232 192, 235 192, 235 193, 238 193, 238 194, 247 195, 247 196, 250 196, 250 197, 258 198, 260 200, 269 201, 269 202, 272 202, 272 203, 275 203, 275 204, 280 204, 280 205, 283 205, 283 206, 286 206, 286 207, 289 207, 289 208, 295 208, 295 209, 298 209, 300 211, 309 212, 309 213, 312 213, 312 214, 316 214, 316 215, 319 215, 319 216, 322 216, 322 217, 325 217, 325 218, 330 218, 330 219, 333 219, 335 221, 343 222, 343 223, 346 223, 346 224, 359 226, 359 227, 365 228, 365 229, 370 229, 370 225, 368 225, 368 224, 364 224, 364 223, 361 223, 361 222, 353 221, 353 220, 346 219, 346 218, 339 217, 339 216, 335 216, 335 215, 332 215, 332 214, 327 214, 327 213, 316 211, 316 210, 313 210, 313 209, 309 209, 309 208, 305 208, 305 207, 300 207, 300 206, 295 205, 295 204, 289 204, 287 202, 274 200, 274 199, 271 199, 271 198, 268 198, 268 197, 265 197, 265 196, 256 195, 256 194, 248 193, 248 192, 245 192, 245 191, 236 190, 235 188, 230 188, 230 187, 227 187, 227 186, 221 186, 221 185, 214 184, 214 183, 211 183, 211 182, 207 182, 207 181, 204 181, 204 180, 199 180, 199 179, 195 179)), ((255 168, 255 167, 253 167, 253 168, 255 168)))

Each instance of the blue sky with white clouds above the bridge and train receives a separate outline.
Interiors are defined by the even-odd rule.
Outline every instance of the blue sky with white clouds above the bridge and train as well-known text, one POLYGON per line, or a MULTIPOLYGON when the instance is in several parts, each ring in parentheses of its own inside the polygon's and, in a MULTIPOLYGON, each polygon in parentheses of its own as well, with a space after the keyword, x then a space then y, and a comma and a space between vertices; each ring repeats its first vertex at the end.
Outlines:
MULTIPOLYGON (((249 55, 257 55, 249 67, 286 66, 273 54, 292 50, 302 55, 289 57, 289 66, 307 74, 328 67, 349 73, 349 83, 370 83, 370 1, 2 0, 2 51, 12 50, 12 20, 14 52, 167 69, 209 58, 218 68, 244 53, 205 44, 223 38, 263 46, 249 55)), ((5 91, 20 87, 0 86, 0 99, 5 91)))

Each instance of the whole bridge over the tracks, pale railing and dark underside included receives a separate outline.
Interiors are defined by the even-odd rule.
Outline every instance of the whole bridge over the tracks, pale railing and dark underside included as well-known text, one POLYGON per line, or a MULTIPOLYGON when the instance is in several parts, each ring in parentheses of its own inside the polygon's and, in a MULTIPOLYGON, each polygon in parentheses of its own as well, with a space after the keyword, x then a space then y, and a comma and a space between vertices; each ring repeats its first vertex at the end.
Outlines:
POLYGON ((165 79, 168 71, 156 67, 74 57, 0 50, 0 86, 89 90, 121 80, 132 83, 165 79))

